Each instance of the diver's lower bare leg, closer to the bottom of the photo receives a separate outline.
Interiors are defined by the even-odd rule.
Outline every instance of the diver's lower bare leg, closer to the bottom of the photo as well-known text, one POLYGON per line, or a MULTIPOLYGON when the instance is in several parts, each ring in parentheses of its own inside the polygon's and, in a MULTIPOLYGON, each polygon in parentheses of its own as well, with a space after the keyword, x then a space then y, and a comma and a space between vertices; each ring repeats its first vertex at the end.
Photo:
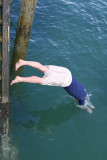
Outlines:
POLYGON ((39 83, 42 84, 44 81, 44 78, 40 78, 40 77, 36 77, 36 76, 32 76, 32 77, 15 77, 14 80, 12 80, 11 84, 14 83, 19 83, 19 82, 28 82, 28 83, 39 83))

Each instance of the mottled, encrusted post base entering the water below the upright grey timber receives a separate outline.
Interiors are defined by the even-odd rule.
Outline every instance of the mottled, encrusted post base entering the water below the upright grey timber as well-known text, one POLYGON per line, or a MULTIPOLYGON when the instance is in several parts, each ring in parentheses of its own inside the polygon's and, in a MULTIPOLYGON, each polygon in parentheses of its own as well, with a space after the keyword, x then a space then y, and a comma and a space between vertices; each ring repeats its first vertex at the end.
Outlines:
POLYGON ((9 104, 0 105, 0 160, 17 160, 17 149, 9 135, 9 104))

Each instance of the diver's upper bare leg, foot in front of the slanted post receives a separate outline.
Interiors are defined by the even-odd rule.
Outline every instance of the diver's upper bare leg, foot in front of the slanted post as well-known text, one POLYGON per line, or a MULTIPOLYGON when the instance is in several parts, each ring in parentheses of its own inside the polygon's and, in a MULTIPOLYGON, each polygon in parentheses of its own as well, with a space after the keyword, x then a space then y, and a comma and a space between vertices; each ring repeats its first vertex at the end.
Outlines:
POLYGON ((42 65, 42 64, 40 64, 39 62, 24 61, 22 59, 19 59, 19 61, 16 63, 15 70, 17 70, 19 67, 24 66, 24 65, 28 65, 28 66, 37 68, 42 72, 46 72, 46 70, 47 70, 47 67, 42 65))

